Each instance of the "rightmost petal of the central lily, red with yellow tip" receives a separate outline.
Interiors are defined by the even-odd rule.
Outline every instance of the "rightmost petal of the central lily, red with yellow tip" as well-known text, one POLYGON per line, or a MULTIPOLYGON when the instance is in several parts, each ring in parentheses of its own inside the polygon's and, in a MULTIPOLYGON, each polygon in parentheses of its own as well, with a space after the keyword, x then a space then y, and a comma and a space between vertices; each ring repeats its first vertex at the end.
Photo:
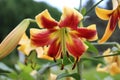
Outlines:
POLYGON ((97 40, 97 30, 96 30, 96 25, 90 25, 87 28, 81 27, 77 29, 77 35, 80 38, 85 38, 89 41, 94 41, 97 40))

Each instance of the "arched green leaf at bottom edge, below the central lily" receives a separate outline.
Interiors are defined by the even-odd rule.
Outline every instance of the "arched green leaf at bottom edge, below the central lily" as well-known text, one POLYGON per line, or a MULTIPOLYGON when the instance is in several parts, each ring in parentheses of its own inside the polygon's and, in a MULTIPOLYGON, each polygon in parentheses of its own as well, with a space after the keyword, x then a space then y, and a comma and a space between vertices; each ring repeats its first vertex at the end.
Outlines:
POLYGON ((57 76, 56 80, 60 80, 61 78, 64 78, 64 77, 72 77, 75 80, 80 80, 80 76, 78 73, 73 73, 73 74, 62 73, 62 74, 57 76))

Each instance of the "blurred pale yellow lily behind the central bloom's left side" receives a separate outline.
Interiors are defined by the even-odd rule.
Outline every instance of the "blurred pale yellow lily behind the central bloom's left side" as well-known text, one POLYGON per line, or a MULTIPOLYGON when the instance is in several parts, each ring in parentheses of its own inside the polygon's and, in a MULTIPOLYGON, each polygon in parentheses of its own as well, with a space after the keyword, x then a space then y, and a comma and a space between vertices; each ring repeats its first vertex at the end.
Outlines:
POLYGON ((31 44, 30 39, 27 37, 26 34, 24 34, 19 42, 18 50, 24 53, 25 55, 29 55, 31 51, 35 50, 37 53, 38 58, 47 59, 47 60, 53 60, 52 57, 49 57, 45 54, 47 52, 47 47, 35 47, 31 44))

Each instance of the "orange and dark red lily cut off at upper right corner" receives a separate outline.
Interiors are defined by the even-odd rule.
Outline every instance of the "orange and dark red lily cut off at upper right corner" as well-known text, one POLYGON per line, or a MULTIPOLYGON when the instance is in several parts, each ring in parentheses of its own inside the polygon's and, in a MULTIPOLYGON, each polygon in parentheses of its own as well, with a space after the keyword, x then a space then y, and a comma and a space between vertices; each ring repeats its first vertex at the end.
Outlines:
POLYGON ((101 9, 99 7, 95 8, 96 14, 100 19, 109 20, 102 39, 98 41, 99 43, 104 43, 109 39, 109 37, 114 32, 117 23, 118 26, 120 27, 120 1, 112 0, 112 2, 113 2, 113 10, 101 9))

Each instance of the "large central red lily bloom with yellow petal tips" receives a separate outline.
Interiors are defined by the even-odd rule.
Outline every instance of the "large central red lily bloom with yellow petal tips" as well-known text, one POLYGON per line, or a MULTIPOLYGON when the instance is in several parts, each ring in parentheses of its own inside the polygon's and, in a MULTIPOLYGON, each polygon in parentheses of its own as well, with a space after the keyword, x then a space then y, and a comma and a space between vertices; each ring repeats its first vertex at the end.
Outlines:
MULTIPOLYGON (((96 40, 96 26, 78 27, 83 16, 75 9, 64 7, 59 22, 51 17, 48 10, 44 10, 36 17, 40 29, 31 29, 31 43, 37 47, 47 45, 47 55, 63 58, 63 55, 72 55, 76 60, 87 50, 84 40, 96 40)), ((74 64, 74 65, 75 65, 74 64)))

